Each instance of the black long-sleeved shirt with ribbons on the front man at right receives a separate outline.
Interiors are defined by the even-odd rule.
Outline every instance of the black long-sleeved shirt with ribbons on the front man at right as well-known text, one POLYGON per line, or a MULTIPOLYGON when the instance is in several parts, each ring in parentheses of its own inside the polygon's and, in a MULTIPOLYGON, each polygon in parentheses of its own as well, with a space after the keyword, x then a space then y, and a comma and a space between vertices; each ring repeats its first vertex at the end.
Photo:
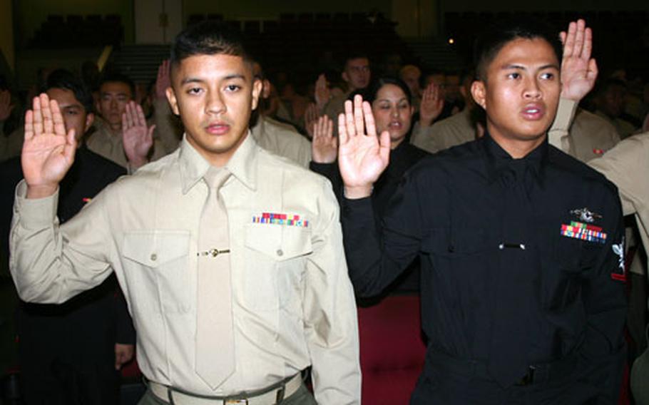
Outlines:
POLYGON ((614 396, 625 321, 615 186, 542 143, 512 159, 487 134, 421 160, 384 215, 344 200, 357 294, 380 292, 416 255, 429 353, 506 369, 579 357, 575 373, 614 396))

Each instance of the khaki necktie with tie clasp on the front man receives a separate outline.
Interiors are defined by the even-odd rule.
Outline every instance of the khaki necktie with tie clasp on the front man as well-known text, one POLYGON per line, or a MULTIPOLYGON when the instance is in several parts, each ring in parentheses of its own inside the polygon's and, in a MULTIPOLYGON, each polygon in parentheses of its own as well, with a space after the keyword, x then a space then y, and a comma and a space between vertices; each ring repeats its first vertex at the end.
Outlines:
POLYGON ((210 168, 205 173, 210 193, 198 235, 195 364, 196 373, 212 389, 235 371, 228 212, 218 193, 228 177, 225 168, 210 168))

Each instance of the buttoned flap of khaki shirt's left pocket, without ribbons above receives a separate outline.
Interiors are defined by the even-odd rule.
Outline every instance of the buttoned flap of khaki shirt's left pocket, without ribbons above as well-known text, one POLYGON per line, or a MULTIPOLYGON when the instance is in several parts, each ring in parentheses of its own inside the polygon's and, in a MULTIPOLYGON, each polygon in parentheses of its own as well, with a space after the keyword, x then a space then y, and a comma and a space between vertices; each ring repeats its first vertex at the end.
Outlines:
POLYGON ((122 251, 124 257, 148 267, 158 267, 187 255, 188 231, 126 232, 122 251))

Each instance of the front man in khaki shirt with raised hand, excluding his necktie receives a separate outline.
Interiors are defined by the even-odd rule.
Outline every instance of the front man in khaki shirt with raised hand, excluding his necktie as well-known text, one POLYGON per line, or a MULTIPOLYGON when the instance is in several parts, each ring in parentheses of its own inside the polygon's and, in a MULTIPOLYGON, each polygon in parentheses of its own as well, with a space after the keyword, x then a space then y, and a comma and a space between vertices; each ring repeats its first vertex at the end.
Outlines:
POLYGON ((73 134, 56 125, 56 105, 40 108, 46 96, 28 114, 11 232, 19 294, 63 302, 112 266, 148 379, 140 404, 315 404, 301 384, 309 366, 318 404, 360 404, 356 307, 331 185, 249 135, 262 85, 230 27, 185 29, 171 64, 168 98, 185 126, 180 148, 108 186, 62 226, 54 212, 73 134), (233 371, 214 387, 198 374, 196 341, 205 326, 198 247, 212 170, 230 173, 218 189, 230 246, 218 254, 230 255, 235 348, 233 371))

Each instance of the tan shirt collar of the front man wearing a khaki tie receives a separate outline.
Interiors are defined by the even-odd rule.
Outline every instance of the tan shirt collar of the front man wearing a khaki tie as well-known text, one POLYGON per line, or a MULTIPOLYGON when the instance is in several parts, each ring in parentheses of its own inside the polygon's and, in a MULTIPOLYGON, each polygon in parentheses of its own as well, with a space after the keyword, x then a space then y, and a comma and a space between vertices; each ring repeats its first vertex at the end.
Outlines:
MULTIPOLYGON (((250 190, 257 189, 257 153, 257 143, 248 130, 245 139, 225 165, 230 173, 250 190)), ((188 193, 210 168, 210 163, 187 141, 187 134, 183 135, 183 141, 180 143, 178 164, 183 194, 188 193)))

